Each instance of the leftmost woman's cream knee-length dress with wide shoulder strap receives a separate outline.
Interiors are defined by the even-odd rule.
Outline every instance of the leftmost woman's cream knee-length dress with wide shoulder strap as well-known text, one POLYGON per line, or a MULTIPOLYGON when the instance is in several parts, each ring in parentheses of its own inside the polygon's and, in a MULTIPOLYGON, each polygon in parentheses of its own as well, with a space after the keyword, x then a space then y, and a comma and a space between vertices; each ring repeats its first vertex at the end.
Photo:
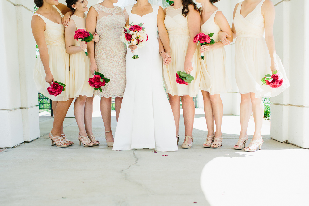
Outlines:
MULTIPOLYGON (((63 17, 61 11, 56 6, 53 7, 56 8, 61 17, 63 17)), ((70 98, 70 71, 69 54, 66 53, 64 26, 62 24, 57 24, 40 14, 34 15, 41 17, 46 24, 44 35, 48 49, 50 71, 55 81, 66 84, 66 87, 65 90, 56 97, 47 92, 46 88, 50 87, 50 85, 45 81, 46 75, 40 54, 36 58, 34 66, 34 83, 36 84, 37 90, 52 101, 67 101, 70 98)))

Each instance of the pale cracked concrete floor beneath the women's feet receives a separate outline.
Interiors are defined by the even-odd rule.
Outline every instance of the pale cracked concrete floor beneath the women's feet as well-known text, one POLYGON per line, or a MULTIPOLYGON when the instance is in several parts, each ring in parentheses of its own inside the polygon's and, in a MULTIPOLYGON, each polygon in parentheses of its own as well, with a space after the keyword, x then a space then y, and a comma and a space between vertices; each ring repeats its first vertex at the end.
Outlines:
MULTIPOLYGON (((196 118, 203 116, 196 114, 196 118)), ((182 116, 179 150, 176 152, 153 153, 149 149, 112 151, 103 139, 104 126, 100 117, 93 118, 93 132, 101 142, 99 146, 79 146, 75 119, 66 118, 64 131, 74 145, 57 148, 51 146, 48 139, 52 122, 53 118, 40 117, 39 139, 0 152, 1 205, 248 205, 237 193, 236 196, 231 196, 235 195, 233 192, 222 195, 222 190, 226 189, 228 193, 229 189, 233 188, 227 178, 235 178, 239 181, 238 186, 242 186, 244 182, 241 175, 238 175, 238 169, 243 169, 243 165, 250 160, 234 157, 260 157, 260 161, 268 162, 267 154, 273 154, 272 161, 282 160, 278 153, 269 153, 279 150, 281 153, 284 150, 289 151, 290 159, 299 159, 299 153, 293 151, 307 152, 303 155, 308 156, 308 150, 277 142, 270 139, 269 135, 263 135, 263 149, 257 152, 233 149, 237 134, 223 134, 224 140, 220 149, 203 148, 207 131, 198 129, 193 129, 193 147, 181 149, 184 138, 182 116), (244 161, 239 163, 235 162, 235 159, 244 161), (226 167, 231 163, 234 168, 233 165, 226 167)), ((112 117, 113 134, 115 128, 116 117, 112 117)), ((302 161, 303 164, 300 165, 308 166, 308 161, 302 161)), ((257 163, 259 164, 256 164, 256 167, 261 167, 264 171, 262 174, 254 174, 254 166, 243 170, 246 174, 254 175, 253 185, 258 177, 263 179, 274 175, 270 174, 268 167, 261 162, 257 163)), ((280 164, 284 162, 280 161, 280 164)), ((300 178, 296 168, 292 168, 292 173, 282 172, 277 175, 288 179, 294 175, 300 178)), ((278 181, 280 179, 278 178, 278 181)), ((307 179, 307 175, 304 175, 302 181, 306 182, 307 179)), ((246 187, 241 190, 246 191, 246 187)), ((240 195, 243 194, 242 191, 240 195)), ((265 194, 266 192, 269 194, 268 190, 265 190, 265 194)), ((263 191, 261 194, 263 199, 263 191)), ((255 203, 257 197, 252 197, 255 203)))

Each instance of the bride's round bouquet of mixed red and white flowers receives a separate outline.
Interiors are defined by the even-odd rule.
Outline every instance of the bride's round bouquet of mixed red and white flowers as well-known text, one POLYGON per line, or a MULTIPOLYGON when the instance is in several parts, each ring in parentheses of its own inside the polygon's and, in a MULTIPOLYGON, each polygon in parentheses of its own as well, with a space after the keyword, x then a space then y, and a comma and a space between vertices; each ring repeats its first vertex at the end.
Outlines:
POLYGON ((122 35, 120 36, 121 41, 125 45, 137 46, 133 52, 133 59, 138 58, 138 48, 142 48, 145 45, 145 41, 148 40, 148 34, 146 34, 144 30, 145 27, 143 27, 142 23, 138 25, 131 23, 124 28, 122 35))

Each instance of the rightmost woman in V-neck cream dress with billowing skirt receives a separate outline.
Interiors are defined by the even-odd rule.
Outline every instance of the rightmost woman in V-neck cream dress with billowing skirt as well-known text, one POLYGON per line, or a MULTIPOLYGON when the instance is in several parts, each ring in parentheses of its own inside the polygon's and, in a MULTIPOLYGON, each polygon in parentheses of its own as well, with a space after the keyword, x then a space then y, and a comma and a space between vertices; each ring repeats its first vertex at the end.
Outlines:
MULTIPOLYGON (((261 97, 273 97, 281 93, 289 86, 289 81, 284 79, 285 85, 272 89, 262 85, 261 79, 266 74, 280 68, 282 76, 285 72, 279 57, 275 52, 273 36, 273 23, 275 8, 270 0, 245 0, 236 4, 233 13, 232 32, 237 37, 235 42, 235 77, 241 94, 240 102, 240 135, 235 144, 235 149, 253 152, 261 149, 263 139, 261 136, 264 105, 261 97), (265 31, 265 38, 263 37, 265 31), (277 61, 278 60, 278 61, 277 61), (251 110, 252 108, 252 110, 251 110), (248 141, 247 127, 253 111, 255 131, 252 141, 245 147, 248 141)), ((220 33, 220 39, 224 44, 228 34, 220 33)))

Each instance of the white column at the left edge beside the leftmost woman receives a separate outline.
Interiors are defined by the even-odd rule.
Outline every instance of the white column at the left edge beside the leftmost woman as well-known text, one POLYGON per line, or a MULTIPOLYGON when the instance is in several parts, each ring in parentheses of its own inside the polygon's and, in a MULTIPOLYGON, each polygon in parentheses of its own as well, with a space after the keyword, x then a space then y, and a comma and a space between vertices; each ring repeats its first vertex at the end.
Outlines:
POLYGON ((37 90, 33 82, 35 41, 32 1, 0 0, 0 147, 40 136, 37 90))

